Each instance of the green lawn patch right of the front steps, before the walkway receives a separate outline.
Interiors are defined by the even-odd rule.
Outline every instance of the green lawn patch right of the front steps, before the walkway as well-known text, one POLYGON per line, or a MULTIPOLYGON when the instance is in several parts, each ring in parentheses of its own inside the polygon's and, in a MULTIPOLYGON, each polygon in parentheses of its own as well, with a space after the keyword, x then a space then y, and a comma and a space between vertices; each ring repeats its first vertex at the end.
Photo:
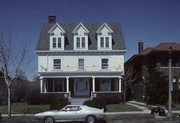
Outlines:
POLYGON ((126 112, 126 111, 142 111, 136 107, 126 104, 111 104, 107 105, 107 112, 126 112))

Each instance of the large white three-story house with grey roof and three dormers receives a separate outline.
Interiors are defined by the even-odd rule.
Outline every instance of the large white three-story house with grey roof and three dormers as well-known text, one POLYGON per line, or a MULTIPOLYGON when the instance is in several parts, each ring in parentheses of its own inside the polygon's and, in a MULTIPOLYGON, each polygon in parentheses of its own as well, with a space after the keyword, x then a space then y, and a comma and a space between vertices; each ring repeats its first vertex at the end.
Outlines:
POLYGON ((49 16, 36 47, 41 93, 121 94, 125 52, 118 23, 57 23, 49 16))

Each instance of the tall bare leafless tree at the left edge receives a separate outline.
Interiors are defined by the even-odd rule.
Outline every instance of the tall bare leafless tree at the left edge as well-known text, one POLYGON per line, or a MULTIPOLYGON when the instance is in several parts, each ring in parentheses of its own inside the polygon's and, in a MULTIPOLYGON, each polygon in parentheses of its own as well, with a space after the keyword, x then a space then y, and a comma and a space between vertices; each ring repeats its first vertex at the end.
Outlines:
POLYGON ((11 118, 11 84, 18 76, 19 71, 29 63, 29 49, 31 41, 19 42, 12 40, 9 33, 5 38, 0 34, 0 67, 7 87, 8 117, 11 118))

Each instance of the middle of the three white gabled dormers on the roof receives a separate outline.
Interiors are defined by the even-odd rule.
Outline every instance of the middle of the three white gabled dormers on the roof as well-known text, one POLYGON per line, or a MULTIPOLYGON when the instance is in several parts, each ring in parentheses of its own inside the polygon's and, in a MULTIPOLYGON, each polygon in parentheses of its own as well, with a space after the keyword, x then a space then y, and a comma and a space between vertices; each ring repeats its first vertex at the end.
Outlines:
POLYGON ((89 30, 82 23, 79 23, 72 33, 74 50, 88 50, 89 30))

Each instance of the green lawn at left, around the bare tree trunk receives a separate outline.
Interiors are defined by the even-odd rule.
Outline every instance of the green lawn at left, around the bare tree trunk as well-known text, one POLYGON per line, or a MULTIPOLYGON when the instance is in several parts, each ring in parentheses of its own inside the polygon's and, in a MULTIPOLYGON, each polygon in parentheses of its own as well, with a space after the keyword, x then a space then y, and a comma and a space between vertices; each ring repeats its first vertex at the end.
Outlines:
MULTIPOLYGON (((49 105, 28 105, 27 103, 13 103, 12 114, 34 114, 49 110, 49 105)), ((0 113, 7 114, 7 105, 0 106, 0 113)))

